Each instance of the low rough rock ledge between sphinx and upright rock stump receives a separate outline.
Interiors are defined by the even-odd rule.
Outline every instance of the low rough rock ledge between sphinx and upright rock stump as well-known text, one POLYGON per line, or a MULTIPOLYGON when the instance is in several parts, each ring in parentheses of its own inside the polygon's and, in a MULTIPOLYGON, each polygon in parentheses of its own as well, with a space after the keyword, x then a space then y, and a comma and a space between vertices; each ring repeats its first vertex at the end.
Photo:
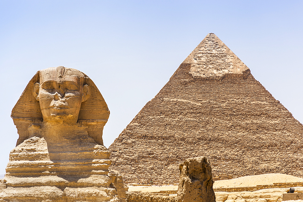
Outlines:
POLYGON ((176 197, 151 192, 126 192, 126 202, 176 202, 176 197))

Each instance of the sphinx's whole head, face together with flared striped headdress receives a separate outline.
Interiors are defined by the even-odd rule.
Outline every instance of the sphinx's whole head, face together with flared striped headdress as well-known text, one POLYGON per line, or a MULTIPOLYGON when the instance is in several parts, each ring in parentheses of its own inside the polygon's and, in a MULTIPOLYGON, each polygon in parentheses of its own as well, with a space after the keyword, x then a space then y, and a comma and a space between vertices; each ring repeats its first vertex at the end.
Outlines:
POLYGON ((103 145, 102 131, 109 110, 92 79, 76 69, 59 66, 34 75, 12 109, 11 117, 18 129, 17 145, 39 136, 35 134, 36 126, 42 123, 78 123, 103 145))

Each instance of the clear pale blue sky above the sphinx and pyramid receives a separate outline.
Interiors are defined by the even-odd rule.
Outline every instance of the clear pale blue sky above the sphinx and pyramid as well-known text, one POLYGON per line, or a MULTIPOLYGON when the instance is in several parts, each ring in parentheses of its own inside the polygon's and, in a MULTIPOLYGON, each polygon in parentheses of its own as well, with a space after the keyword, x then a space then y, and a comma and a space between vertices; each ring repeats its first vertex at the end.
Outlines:
POLYGON ((18 139, 10 113, 40 69, 95 82, 108 147, 210 32, 303 123, 303 1, 0 0, 0 174, 18 139))

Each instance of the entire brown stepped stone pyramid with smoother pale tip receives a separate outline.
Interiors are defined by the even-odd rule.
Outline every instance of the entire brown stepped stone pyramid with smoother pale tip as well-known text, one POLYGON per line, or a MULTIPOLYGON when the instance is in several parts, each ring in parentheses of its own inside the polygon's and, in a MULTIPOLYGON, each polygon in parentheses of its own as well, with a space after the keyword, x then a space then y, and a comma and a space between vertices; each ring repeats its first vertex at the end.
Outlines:
POLYGON ((213 33, 182 62, 109 147, 126 182, 175 183, 186 158, 213 176, 303 177, 303 125, 213 33))

